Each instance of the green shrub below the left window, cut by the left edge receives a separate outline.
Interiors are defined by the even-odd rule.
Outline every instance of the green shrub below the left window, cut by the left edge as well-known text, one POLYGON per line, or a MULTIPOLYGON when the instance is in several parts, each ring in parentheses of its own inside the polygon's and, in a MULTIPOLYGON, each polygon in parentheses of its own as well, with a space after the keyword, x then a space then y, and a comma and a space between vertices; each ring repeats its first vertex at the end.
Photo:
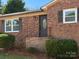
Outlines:
POLYGON ((14 47, 15 36, 0 33, 0 48, 12 48, 14 47))

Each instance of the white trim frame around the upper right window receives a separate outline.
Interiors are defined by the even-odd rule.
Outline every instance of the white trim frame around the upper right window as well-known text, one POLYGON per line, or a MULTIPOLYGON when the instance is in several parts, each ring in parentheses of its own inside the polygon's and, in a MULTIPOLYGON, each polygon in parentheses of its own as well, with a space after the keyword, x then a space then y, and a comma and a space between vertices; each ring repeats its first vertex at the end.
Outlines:
POLYGON ((77 8, 71 8, 71 9, 65 9, 63 10, 63 23, 66 24, 66 23, 77 23, 77 8), (65 13, 67 11, 75 11, 75 21, 65 21, 65 13))

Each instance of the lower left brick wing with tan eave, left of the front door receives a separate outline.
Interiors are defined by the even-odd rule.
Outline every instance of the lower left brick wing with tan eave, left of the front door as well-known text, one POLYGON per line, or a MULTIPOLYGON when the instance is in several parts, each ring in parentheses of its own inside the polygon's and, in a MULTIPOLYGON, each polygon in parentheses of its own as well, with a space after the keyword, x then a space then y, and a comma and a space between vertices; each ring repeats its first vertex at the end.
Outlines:
POLYGON ((45 12, 21 12, 20 14, 7 14, 0 16, 0 32, 5 32, 5 20, 19 19, 19 32, 5 32, 16 37, 16 46, 25 47, 25 40, 30 37, 39 37, 39 18, 46 15, 45 12))

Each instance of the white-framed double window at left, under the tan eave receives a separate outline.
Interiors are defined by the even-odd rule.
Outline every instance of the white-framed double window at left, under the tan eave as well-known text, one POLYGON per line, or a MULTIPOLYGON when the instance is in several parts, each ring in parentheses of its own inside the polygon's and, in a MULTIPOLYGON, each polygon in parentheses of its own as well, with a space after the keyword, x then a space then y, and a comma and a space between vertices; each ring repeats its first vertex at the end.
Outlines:
POLYGON ((5 20, 5 32, 19 32, 19 20, 5 20))

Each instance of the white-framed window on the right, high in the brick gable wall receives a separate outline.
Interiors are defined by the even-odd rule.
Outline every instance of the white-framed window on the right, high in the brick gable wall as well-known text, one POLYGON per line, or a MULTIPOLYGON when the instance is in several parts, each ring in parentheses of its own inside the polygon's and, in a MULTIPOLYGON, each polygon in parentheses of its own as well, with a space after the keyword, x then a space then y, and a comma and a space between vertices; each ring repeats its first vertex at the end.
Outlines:
POLYGON ((63 10, 63 23, 77 23, 77 8, 63 10))

